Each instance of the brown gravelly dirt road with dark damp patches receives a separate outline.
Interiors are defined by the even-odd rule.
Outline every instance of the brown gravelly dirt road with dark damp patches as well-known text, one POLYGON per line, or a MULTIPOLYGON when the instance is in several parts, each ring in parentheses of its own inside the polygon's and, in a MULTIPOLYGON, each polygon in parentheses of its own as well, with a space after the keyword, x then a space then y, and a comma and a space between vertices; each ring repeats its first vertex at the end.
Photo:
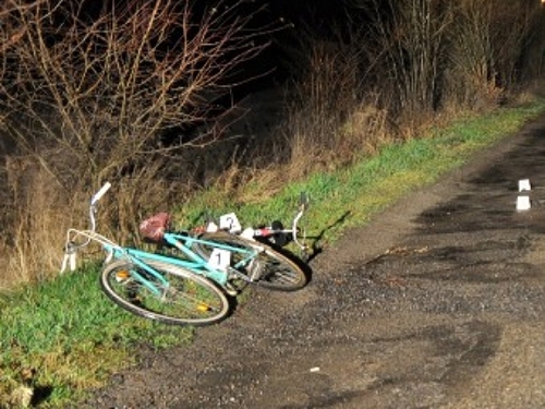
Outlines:
POLYGON ((545 118, 347 231, 305 289, 256 289, 87 407, 544 408, 544 159, 545 118))

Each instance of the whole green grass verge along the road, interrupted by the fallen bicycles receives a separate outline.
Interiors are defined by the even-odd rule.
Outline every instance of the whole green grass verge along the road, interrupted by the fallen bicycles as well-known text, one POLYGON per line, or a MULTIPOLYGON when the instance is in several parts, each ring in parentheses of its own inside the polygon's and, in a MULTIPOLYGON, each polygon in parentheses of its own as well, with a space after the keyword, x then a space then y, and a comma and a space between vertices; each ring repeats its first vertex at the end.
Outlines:
MULTIPOLYGON (((310 236, 319 237, 318 245, 327 245, 346 228, 364 225, 544 111, 545 100, 537 100, 463 118, 425 137, 386 146, 350 168, 293 182, 259 203, 205 192, 177 210, 178 221, 194 222, 203 209, 210 209, 215 215, 235 212, 244 226, 272 219, 287 224, 305 191, 311 207, 304 225, 310 236)), ((73 402, 131 365, 140 342, 164 348, 191 342, 194 335, 192 328, 155 324, 112 304, 100 291, 96 266, 1 294, 0 311, 0 407, 21 385, 44 392, 40 407, 73 402)))

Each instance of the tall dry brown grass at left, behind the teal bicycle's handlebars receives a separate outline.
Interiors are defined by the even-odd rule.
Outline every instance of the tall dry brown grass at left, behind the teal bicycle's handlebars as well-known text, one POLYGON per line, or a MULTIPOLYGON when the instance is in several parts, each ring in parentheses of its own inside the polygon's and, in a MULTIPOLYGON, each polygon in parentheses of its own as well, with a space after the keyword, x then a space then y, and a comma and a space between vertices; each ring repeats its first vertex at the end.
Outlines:
MULTIPOLYGON (((28 159, 28 158, 26 158, 28 159)), ((0 250, 7 268, 0 288, 56 276, 63 257, 66 230, 88 228, 88 203, 98 187, 65 191, 40 167, 25 170, 25 158, 9 159, 9 190, 12 192, 9 226, 0 250), (8 236, 9 232, 9 236, 8 236)), ((149 214, 169 210, 187 197, 191 189, 180 181, 157 179, 153 164, 131 178, 114 182, 102 199, 98 231, 126 244, 138 244, 137 227, 149 214)), ((90 245, 86 255, 100 254, 90 245)))

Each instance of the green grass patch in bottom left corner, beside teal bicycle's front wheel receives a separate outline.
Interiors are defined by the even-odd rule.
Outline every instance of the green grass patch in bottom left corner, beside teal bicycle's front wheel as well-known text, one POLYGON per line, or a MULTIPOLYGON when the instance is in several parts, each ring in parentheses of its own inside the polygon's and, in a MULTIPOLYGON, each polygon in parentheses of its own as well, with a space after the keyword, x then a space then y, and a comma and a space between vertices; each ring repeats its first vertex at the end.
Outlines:
POLYGON ((137 342, 161 348, 193 337, 192 328, 156 324, 117 308, 100 291, 93 266, 2 294, 0 309, 0 397, 28 384, 48 390, 43 407, 75 399, 132 364, 137 342))

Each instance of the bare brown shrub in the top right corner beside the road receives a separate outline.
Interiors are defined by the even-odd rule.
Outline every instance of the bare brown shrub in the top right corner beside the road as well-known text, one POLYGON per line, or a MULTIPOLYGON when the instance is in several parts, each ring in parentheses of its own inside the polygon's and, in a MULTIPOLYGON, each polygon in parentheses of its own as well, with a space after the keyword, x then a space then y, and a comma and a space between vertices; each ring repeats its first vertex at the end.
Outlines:
POLYGON ((521 79, 541 14, 532 0, 461 1, 449 33, 449 96, 470 107, 496 105, 521 79))

